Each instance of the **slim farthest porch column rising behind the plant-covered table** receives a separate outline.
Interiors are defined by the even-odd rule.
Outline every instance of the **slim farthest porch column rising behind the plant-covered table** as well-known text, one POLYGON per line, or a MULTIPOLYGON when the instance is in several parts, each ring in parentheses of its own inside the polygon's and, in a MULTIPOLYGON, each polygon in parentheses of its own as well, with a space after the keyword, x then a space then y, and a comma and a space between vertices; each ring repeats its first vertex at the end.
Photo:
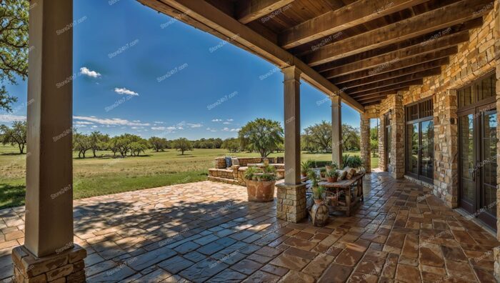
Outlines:
POLYGON ((331 161, 342 167, 342 99, 331 97, 331 161))

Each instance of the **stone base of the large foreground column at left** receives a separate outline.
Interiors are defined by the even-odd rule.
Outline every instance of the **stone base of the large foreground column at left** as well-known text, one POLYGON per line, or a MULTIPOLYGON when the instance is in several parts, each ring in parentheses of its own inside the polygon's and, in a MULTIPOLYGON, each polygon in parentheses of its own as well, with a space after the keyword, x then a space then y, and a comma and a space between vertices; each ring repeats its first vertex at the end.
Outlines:
POLYGON ((14 282, 85 282, 86 250, 77 244, 58 254, 35 257, 24 246, 12 250, 14 282))

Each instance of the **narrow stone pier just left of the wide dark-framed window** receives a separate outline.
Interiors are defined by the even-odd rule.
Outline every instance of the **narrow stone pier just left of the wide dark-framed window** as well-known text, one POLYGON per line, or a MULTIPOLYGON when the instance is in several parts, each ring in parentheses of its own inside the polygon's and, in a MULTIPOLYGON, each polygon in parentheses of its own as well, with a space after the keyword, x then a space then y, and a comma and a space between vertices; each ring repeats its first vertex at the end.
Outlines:
POLYGON ((403 92, 394 95, 394 108, 391 114, 391 163, 389 172, 394 179, 404 177, 404 107, 403 92))

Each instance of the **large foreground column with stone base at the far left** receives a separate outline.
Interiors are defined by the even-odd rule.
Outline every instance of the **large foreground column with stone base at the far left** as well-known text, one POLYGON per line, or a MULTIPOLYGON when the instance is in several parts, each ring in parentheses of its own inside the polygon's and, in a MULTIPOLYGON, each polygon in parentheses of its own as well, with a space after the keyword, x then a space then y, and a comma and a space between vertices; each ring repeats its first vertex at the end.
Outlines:
POLYGON ((31 1, 26 227, 12 252, 15 282, 85 281, 86 251, 73 243, 72 22, 73 1, 31 1))

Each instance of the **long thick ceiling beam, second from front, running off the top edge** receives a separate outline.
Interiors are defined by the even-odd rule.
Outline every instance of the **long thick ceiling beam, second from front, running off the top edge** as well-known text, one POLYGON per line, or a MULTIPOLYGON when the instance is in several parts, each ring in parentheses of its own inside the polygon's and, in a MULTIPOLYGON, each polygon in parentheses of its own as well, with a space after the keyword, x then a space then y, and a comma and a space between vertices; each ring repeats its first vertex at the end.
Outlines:
POLYGON ((278 42, 284 49, 291 49, 426 1, 429 0, 356 1, 286 29, 279 34, 278 42))

